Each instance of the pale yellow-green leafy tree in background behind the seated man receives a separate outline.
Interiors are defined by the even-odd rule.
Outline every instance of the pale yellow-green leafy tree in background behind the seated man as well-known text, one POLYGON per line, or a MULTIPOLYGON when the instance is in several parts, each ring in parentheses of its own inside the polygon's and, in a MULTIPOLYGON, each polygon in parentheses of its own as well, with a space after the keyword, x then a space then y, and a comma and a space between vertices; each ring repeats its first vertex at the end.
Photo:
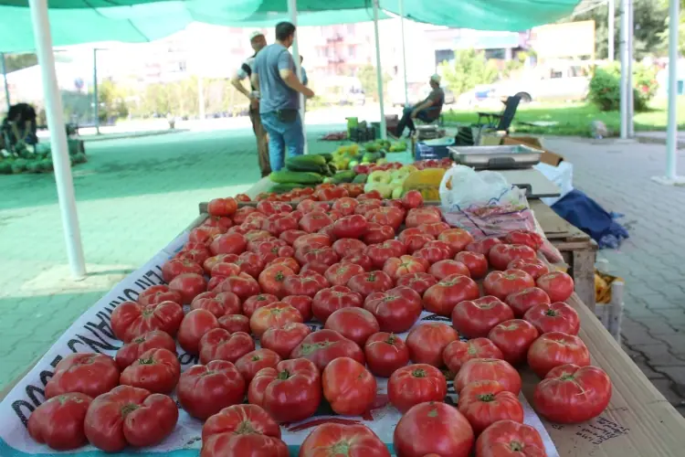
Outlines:
POLYGON ((468 92, 479 84, 490 84, 497 80, 497 65, 485 58, 485 52, 476 49, 454 51, 454 62, 441 64, 448 88, 455 95, 468 92))

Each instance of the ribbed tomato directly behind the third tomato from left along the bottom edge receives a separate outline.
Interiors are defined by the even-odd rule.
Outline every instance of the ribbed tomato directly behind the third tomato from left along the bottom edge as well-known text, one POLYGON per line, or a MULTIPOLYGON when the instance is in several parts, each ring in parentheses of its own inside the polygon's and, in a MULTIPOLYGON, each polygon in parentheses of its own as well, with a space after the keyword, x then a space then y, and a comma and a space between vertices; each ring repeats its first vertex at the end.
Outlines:
POLYGON ((448 381, 442 372, 426 364, 401 367, 387 382, 388 399, 403 414, 425 401, 444 401, 447 393, 448 381))

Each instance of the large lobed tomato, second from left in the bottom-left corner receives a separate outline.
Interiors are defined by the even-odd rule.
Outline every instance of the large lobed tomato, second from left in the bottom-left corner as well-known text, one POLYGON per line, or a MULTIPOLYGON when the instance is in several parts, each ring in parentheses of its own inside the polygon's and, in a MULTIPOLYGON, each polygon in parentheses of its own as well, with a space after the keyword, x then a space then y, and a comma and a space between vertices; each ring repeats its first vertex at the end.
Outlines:
POLYGON ((96 448, 120 452, 127 445, 153 446, 163 441, 177 421, 178 408, 170 397, 119 386, 90 403, 84 430, 96 448))

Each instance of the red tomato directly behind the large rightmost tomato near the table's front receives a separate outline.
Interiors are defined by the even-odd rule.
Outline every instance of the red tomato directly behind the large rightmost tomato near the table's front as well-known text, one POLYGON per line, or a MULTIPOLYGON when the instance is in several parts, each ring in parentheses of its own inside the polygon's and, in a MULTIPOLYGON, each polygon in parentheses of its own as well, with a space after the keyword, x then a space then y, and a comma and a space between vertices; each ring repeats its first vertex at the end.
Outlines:
POLYGON ((538 377, 545 377, 554 367, 590 365, 590 352, 579 337, 561 332, 540 335, 528 349, 528 365, 538 377))

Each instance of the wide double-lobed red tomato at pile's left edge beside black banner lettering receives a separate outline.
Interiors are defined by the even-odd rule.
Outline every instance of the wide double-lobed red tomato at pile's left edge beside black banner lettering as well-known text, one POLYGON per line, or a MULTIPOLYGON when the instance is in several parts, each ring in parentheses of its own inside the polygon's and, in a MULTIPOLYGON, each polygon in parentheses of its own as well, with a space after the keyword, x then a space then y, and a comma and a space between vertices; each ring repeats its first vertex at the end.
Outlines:
POLYGON ((114 308, 111 314, 111 330, 117 338, 128 343, 153 330, 174 336, 183 320, 184 310, 178 303, 144 305, 124 302, 114 308))

